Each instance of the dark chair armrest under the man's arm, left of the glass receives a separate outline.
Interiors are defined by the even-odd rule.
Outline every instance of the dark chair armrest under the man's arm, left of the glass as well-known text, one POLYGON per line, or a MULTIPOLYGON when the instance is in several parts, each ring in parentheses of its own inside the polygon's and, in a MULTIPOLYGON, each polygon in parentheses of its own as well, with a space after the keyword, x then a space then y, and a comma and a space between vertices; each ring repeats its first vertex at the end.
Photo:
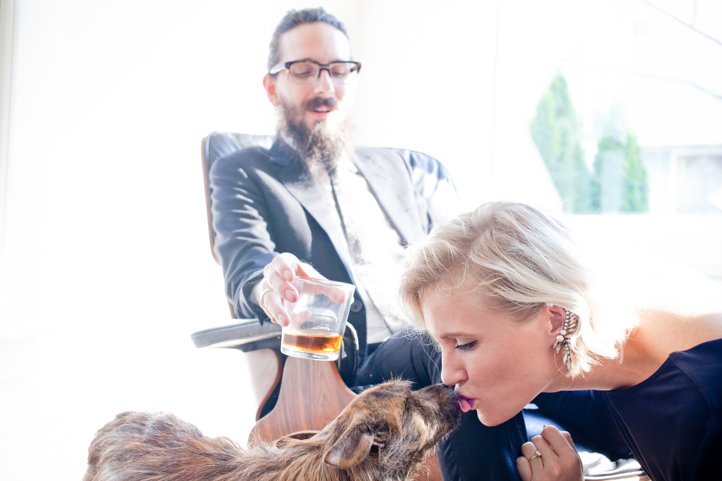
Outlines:
POLYGON ((196 347, 228 347, 243 352, 257 349, 279 349, 281 326, 267 322, 261 325, 257 319, 239 319, 227 326, 204 329, 191 334, 196 347))

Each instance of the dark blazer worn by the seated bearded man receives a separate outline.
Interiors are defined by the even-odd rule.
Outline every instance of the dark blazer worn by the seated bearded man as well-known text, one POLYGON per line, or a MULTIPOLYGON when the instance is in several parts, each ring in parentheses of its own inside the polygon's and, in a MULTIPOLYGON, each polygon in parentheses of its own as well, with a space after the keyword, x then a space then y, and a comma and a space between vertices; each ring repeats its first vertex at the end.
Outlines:
MULTIPOLYGON (((387 148, 360 148, 356 156, 358 169, 403 245, 420 239, 451 214, 454 186, 437 160, 387 148)), ((216 160, 209 188, 216 254, 226 295, 238 317, 268 320, 250 294, 263 268, 281 252, 294 254, 329 279, 352 282, 351 257, 336 214, 324 196, 317 195, 305 165, 284 142, 216 160)), ((364 352, 366 310, 358 292, 349 322, 364 352)))

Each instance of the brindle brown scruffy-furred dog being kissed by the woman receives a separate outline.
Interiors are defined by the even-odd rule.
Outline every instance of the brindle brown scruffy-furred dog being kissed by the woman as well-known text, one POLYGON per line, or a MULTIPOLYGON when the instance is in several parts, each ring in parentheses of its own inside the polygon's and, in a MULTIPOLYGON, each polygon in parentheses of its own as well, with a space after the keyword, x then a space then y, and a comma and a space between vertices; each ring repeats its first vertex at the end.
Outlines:
POLYGON ((389 381, 317 433, 243 450, 172 414, 125 412, 96 434, 84 481, 405 481, 459 417, 450 388, 389 381))

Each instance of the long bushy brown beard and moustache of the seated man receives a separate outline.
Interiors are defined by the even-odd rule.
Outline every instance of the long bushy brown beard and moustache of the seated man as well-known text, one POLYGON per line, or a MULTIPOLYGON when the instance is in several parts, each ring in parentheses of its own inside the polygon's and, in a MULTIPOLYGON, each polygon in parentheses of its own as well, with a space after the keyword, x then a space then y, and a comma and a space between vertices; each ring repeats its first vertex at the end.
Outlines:
POLYGON ((351 122, 348 119, 338 125, 318 122, 309 128, 303 122, 303 111, 323 106, 334 108, 336 99, 315 97, 302 107, 303 110, 281 103, 283 115, 278 132, 291 140, 311 173, 320 168, 334 175, 338 159, 343 154, 352 154, 351 122))

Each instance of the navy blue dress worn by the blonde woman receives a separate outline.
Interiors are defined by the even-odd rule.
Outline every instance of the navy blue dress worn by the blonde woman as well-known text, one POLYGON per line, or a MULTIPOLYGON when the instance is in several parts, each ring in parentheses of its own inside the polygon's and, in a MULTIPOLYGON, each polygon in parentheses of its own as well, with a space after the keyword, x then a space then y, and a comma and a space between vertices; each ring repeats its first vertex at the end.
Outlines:
POLYGON ((651 479, 722 480, 722 339, 672 353, 640 384, 594 394, 651 479))

